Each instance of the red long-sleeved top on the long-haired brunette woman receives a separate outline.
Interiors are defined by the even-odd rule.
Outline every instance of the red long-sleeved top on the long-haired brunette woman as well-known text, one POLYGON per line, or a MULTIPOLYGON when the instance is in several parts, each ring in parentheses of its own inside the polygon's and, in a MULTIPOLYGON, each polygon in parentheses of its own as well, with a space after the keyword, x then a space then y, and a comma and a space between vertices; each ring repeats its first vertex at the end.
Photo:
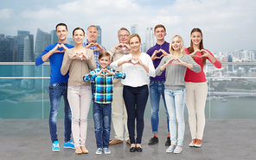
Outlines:
MULTIPOLYGON (((208 50, 206 50, 208 51, 208 50)), ((209 52, 209 51, 208 51, 209 52)), ((185 48, 185 53, 186 54, 189 54, 189 50, 188 48, 185 48)), ((213 57, 213 53, 209 52, 213 57)), ((201 52, 196 52, 196 55, 198 56, 202 56, 201 52)), ((199 73, 195 73, 195 71, 191 71, 189 70, 189 68, 187 68, 187 71, 186 71, 186 75, 185 75, 185 82, 188 82, 188 83, 204 83, 206 82, 206 78, 205 78, 205 74, 203 72, 203 66, 202 66, 202 58, 200 57, 195 57, 195 62, 201 66, 201 71, 199 73)), ((216 67, 216 68, 221 68, 221 62, 218 61, 216 59, 216 61, 213 63, 208 57, 207 59, 216 67)))

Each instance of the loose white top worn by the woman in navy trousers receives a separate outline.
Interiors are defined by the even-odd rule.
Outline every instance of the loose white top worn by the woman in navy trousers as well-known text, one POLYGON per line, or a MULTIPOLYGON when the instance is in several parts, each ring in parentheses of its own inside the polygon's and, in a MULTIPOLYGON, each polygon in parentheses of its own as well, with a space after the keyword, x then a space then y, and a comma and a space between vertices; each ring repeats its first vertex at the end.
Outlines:
MULTIPOLYGON (((111 68, 118 68, 118 62, 131 58, 132 55, 126 54, 123 57, 119 58, 117 61, 112 62, 110 65, 111 68)), ((131 87, 140 87, 149 83, 149 77, 156 77, 155 67, 153 65, 152 59, 147 53, 142 52, 139 56, 140 60, 144 65, 149 67, 149 73, 144 70, 144 67, 141 65, 133 65, 131 63, 125 63, 122 65, 122 72, 126 74, 125 79, 121 80, 121 83, 131 87)))

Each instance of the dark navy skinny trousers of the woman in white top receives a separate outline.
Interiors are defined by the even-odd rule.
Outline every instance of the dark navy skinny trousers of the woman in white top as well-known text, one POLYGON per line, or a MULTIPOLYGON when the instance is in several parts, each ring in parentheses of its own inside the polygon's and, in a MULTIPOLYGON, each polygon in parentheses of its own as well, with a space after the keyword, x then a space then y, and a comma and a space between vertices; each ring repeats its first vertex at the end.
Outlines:
POLYGON ((128 114, 127 126, 131 144, 141 144, 144 131, 144 110, 149 97, 148 85, 140 87, 124 86, 123 96, 128 114), (135 142, 135 119, 137 121, 137 138, 135 142))

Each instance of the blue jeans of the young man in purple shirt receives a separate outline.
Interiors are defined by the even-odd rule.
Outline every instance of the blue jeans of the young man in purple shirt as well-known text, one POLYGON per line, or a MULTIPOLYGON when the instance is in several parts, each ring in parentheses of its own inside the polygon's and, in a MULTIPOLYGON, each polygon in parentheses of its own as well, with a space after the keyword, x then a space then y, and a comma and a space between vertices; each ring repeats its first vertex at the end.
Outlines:
POLYGON ((164 83, 165 81, 150 81, 150 106, 151 106, 151 127, 152 133, 155 134, 158 132, 158 124, 159 124, 159 103, 160 97, 163 97, 163 106, 165 108, 166 120, 167 120, 167 131, 169 132, 169 114, 166 108, 166 102, 164 98, 164 83))

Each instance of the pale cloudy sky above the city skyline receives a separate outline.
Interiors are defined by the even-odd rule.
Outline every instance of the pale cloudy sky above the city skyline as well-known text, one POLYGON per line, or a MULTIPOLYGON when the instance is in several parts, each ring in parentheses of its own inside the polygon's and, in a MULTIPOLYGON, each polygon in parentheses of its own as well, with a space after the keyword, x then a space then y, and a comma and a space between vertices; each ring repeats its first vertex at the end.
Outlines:
MULTIPOLYGON (((185 46, 190 31, 201 28, 204 47, 212 52, 256 50, 256 2, 254 0, 0 0, 0 34, 16 35, 37 28, 50 33, 56 24, 74 28, 99 25, 102 46, 118 44, 118 29, 138 24, 145 40, 147 28, 163 24, 165 40, 179 34, 185 46)), ((154 41, 156 43, 156 39, 154 41)))

